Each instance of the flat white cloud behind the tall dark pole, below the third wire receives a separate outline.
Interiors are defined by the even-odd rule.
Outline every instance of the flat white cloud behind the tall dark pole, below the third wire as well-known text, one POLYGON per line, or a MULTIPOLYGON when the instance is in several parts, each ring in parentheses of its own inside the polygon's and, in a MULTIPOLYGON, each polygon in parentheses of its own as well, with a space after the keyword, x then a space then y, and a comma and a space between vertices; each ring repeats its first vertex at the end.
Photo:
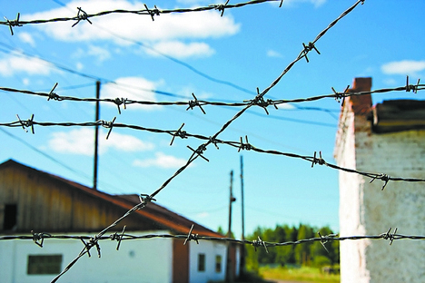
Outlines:
MULTIPOLYGON (((104 139, 106 131, 99 131, 99 154, 108 149, 117 151, 150 151, 153 143, 143 142, 132 135, 111 132, 108 140, 104 139)), ((54 132, 48 142, 49 149, 62 153, 82 155, 94 154, 94 129, 82 128, 70 132, 54 132)))

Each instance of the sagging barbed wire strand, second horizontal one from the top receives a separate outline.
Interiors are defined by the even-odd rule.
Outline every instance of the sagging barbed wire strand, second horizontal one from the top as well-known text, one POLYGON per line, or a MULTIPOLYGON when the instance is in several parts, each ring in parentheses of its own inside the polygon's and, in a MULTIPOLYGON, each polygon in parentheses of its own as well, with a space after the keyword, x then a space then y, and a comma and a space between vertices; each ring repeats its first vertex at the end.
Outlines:
MULTIPOLYGON (((49 93, 44 92, 33 92, 28 90, 18 90, 15 88, 9 88, 9 87, 0 87, 0 91, 8 92, 8 93, 24 93, 28 95, 37 95, 42 97, 47 97, 47 101, 54 100, 54 101, 72 101, 72 102, 109 102, 114 103, 118 107, 118 112, 121 114, 121 105, 124 105, 124 109, 130 104, 140 104, 140 105, 159 105, 159 106, 171 106, 171 105, 183 105, 188 106, 186 110, 193 109, 194 107, 198 106, 200 107, 201 111, 203 113, 204 110, 202 106, 205 105, 211 105, 211 106, 235 106, 235 107, 241 107, 241 106, 247 106, 250 103, 252 103, 252 100, 243 101, 243 102, 210 102, 205 100, 198 100, 197 97, 192 93, 193 100, 189 100, 186 102, 180 101, 180 102, 153 102, 153 101, 140 101, 140 100, 132 100, 127 98, 79 98, 74 96, 61 96, 57 93, 54 93, 54 89, 58 83, 54 84, 54 87, 49 93)), ((331 90, 333 93, 331 94, 322 94, 317 96, 311 96, 308 98, 296 98, 296 99, 268 99, 263 100, 262 102, 255 102, 255 105, 262 107, 267 114, 269 112, 267 111, 267 107, 272 105, 277 109, 277 105, 285 104, 285 103, 301 103, 301 102, 314 102, 321 99, 326 98, 334 98, 337 102, 343 101, 346 97, 350 96, 359 96, 359 95, 366 95, 366 94, 374 94, 374 93, 390 93, 390 92, 410 92, 418 93, 419 91, 425 90, 425 84, 420 84, 420 79, 418 79, 418 82, 416 84, 410 84, 409 83, 409 76, 407 76, 407 83, 404 86, 398 86, 398 87, 392 87, 392 88, 382 88, 377 89, 373 91, 367 91, 367 92, 355 92, 350 91, 348 86, 344 92, 338 93, 335 91, 333 87, 331 87, 331 90)))

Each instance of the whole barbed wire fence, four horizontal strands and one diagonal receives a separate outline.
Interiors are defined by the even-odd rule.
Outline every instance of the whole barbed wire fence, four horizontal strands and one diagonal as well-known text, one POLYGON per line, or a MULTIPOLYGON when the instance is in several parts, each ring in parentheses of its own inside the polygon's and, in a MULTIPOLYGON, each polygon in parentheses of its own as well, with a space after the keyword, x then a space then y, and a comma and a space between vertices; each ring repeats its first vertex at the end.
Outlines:
MULTIPOLYGON (((118 123, 115 122, 116 117, 111 122, 106 121, 96 121, 96 122, 37 122, 34 120, 35 115, 33 114, 32 117, 28 120, 21 120, 21 118, 17 116, 17 121, 15 122, 1 122, 0 126, 3 127, 22 127, 26 132, 28 132, 27 128, 31 129, 32 133, 35 133, 35 125, 36 126, 64 126, 64 127, 95 127, 95 126, 103 126, 104 128, 109 129, 109 132, 107 133, 106 139, 108 139, 109 135, 111 134, 113 128, 130 128, 133 130, 138 131, 145 131, 145 132, 154 132, 154 133, 166 133, 172 136, 172 140, 170 142, 170 145, 173 145, 173 141, 175 138, 181 138, 181 139, 187 139, 187 138, 193 138, 203 141, 198 148, 193 149, 190 146, 187 146, 190 151, 192 151, 189 159, 186 161, 186 163, 179 168, 177 171, 173 173, 173 175, 163 182, 163 184, 157 189, 154 190, 151 194, 141 194, 140 195, 140 203, 136 204, 131 210, 128 210, 124 213, 124 215, 115 220, 111 225, 104 228, 102 231, 100 231, 95 236, 69 236, 69 235, 52 235, 49 233, 37 233, 32 231, 32 235, 29 236, 1 236, 0 240, 21 240, 21 239, 30 239, 34 240, 35 244, 39 247, 43 248, 44 245, 44 239, 79 239, 84 243, 84 248, 80 251, 80 253, 77 255, 77 257, 72 260, 64 269, 63 271, 58 274, 52 282, 57 281, 59 278, 61 278, 65 272, 67 272, 70 268, 74 266, 74 264, 83 257, 85 254, 88 254, 90 256, 90 250, 92 248, 97 249, 98 256, 101 256, 101 248, 99 241, 104 239, 110 239, 110 240, 117 240, 117 249, 119 249, 121 242, 123 240, 127 239, 153 239, 153 238, 173 238, 173 239, 185 239, 184 244, 186 244, 187 241, 195 240, 197 243, 199 240, 217 240, 217 241, 226 241, 226 242, 232 242, 236 244, 242 244, 242 245, 252 245, 255 249, 256 248, 264 248, 267 251, 268 247, 281 247, 281 246, 288 246, 288 245, 299 245, 303 243, 308 242, 315 242, 319 241, 323 245, 323 248, 326 249, 325 243, 330 241, 341 241, 341 240, 355 240, 355 239, 389 239, 390 244, 392 244, 393 240, 395 239, 410 239, 410 240, 416 240, 425 239, 425 236, 415 236, 415 235, 402 235, 397 234, 397 229, 395 229, 391 233, 391 229, 388 231, 378 234, 378 235, 372 235, 372 236, 350 236, 350 237, 337 237, 336 234, 332 235, 326 235, 321 236, 319 234, 319 238, 311 238, 311 239, 301 239, 297 241, 288 241, 288 242, 282 242, 282 243, 273 243, 273 242, 267 242, 263 241, 260 237, 255 240, 240 240, 240 239, 230 239, 230 238, 215 238, 215 237, 205 237, 205 236, 199 236, 198 234, 193 234, 193 227, 189 230, 187 235, 171 235, 171 234, 151 234, 151 235, 143 235, 143 236, 135 236, 131 234, 124 233, 124 229, 122 233, 114 232, 110 236, 106 236, 106 233, 113 229, 118 223, 120 223, 122 220, 124 220, 126 217, 128 217, 130 214, 132 214, 136 210, 142 210, 145 206, 149 205, 151 201, 154 201, 155 196, 158 195, 173 179, 178 176, 180 173, 182 173, 193 161, 198 159, 199 157, 203 158, 204 161, 208 161, 208 159, 204 156, 204 151, 207 150, 207 147, 213 144, 217 149, 219 149, 220 145, 227 145, 231 146, 233 148, 237 148, 238 151, 246 150, 246 151, 257 151, 260 153, 265 154, 274 154, 274 155, 282 155, 290 158, 296 158, 301 159, 304 161, 311 162, 311 167, 313 167, 315 164, 319 165, 325 165, 327 167, 330 167, 334 170, 339 171, 347 171, 351 173, 360 174, 363 176, 366 176, 368 178, 371 178, 371 181, 375 180, 381 180, 383 181, 382 190, 386 187, 387 183, 389 181, 425 181, 425 179, 415 179, 415 178, 402 178, 402 177, 390 177, 387 174, 384 173, 373 173, 373 172, 364 172, 364 171, 355 171, 348 168, 342 168, 340 166, 328 163, 324 161, 321 158, 321 152, 319 152, 319 156, 317 155, 317 152, 314 152, 313 156, 302 156, 298 154, 293 154, 289 152, 282 152, 282 151, 274 151, 274 150, 263 150, 261 148, 253 146, 250 142, 248 142, 248 137, 245 136, 245 142, 243 142, 243 139, 241 137, 240 141, 223 141, 218 138, 218 136, 224 132, 235 120, 237 120, 239 117, 242 116, 244 112, 246 112, 248 109, 250 109, 252 106, 259 106, 262 107, 262 109, 269 114, 267 107, 273 106, 274 108, 278 109, 277 105, 284 104, 284 103, 296 103, 296 102, 311 102, 311 101, 317 101, 321 99, 327 99, 327 98, 333 98, 337 100, 337 102, 343 101, 346 97, 355 96, 355 95, 364 95, 364 94, 371 94, 371 93, 390 93, 390 92, 410 92, 413 91, 414 93, 417 93, 418 91, 425 89, 425 84, 420 84, 420 81, 418 80, 418 83, 416 84, 410 84, 409 83, 409 77, 407 79, 407 83, 405 86, 400 86, 396 88, 390 88, 390 89, 380 89, 375 90, 371 92, 351 92, 349 91, 349 87, 345 89, 344 92, 338 93, 335 91, 335 89, 332 87, 331 90, 333 93, 331 94, 324 94, 320 96, 313 96, 310 98, 299 98, 294 100, 271 100, 271 99, 264 99, 264 96, 277 84, 280 82, 282 77, 288 73, 292 66, 299 62, 301 59, 305 58, 307 62, 309 62, 308 54, 314 50, 317 54, 320 54, 319 50, 316 48, 316 43, 321 39, 321 37, 326 34, 333 25, 337 24, 341 18, 343 18, 345 15, 348 15, 351 13, 351 11, 359 4, 363 4, 365 0, 358 0, 355 2, 354 5, 351 5, 350 8, 348 8, 346 11, 344 11, 338 18, 336 18, 334 21, 331 22, 324 30, 321 31, 320 34, 316 36, 316 38, 309 42, 309 44, 302 44, 303 48, 301 50, 301 53, 292 61, 292 63, 289 63, 288 66, 283 70, 283 72, 262 92, 257 88, 257 94, 256 96, 249 101, 243 101, 243 102, 208 102, 204 100, 198 100, 196 96, 193 93, 193 100, 187 101, 187 102, 149 102, 149 101, 136 101, 136 100, 129 100, 126 98, 116 98, 116 99, 93 99, 93 98, 77 98, 73 96, 61 96, 57 93, 54 93, 54 89, 57 86, 57 83, 54 85, 52 90, 49 93, 40 93, 40 92, 32 92, 27 90, 17 90, 13 88, 7 88, 7 87, 0 87, 1 91, 7 92, 7 93, 24 93, 27 95, 37 95, 47 98, 47 101, 54 100, 54 101, 73 101, 73 102, 108 102, 108 103, 114 103, 117 108, 118 112, 121 114, 121 106, 124 106, 124 109, 126 109, 127 106, 131 104, 143 104, 143 105, 163 105, 163 106, 169 106, 169 105, 180 105, 187 107, 186 110, 193 110, 195 107, 199 107, 200 110, 205 114, 206 112, 203 109, 203 106, 211 105, 211 106, 229 106, 229 107, 242 107, 242 109, 237 112, 230 120, 222 124, 222 128, 213 133, 212 136, 204 136, 200 134, 195 133, 189 133, 183 131, 183 126, 178 130, 163 130, 163 129, 154 129, 154 128, 146 128, 139 125, 131 125, 131 124, 125 124, 125 123, 118 123)), ((5 18, 5 21, 0 22, 0 24, 7 25, 10 28, 10 32, 13 35, 14 30, 13 27, 22 26, 24 24, 46 24, 46 23, 54 23, 54 22, 65 22, 65 21, 76 21, 72 26, 75 24, 78 24, 81 21, 87 21, 90 24, 90 19, 93 19, 97 16, 103 16, 103 15, 109 15, 109 14, 135 14, 135 15, 148 15, 152 17, 152 20, 154 21, 154 16, 163 15, 163 14, 171 14, 171 13, 192 13, 192 12, 200 12, 200 11, 208 11, 208 10, 218 10, 221 12, 221 15, 223 15, 225 9, 230 8, 238 8, 245 5, 256 5, 256 4, 262 4, 265 2, 280 2, 280 5, 282 5, 281 0, 254 0, 249 1, 245 3, 235 4, 235 5, 229 5, 229 1, 227 1, 224 5, 208 5, 203 6, 199 8, 184 8, 184 9, 173 9, 173 10, 160 10, 156 6, 154 6, 153 9, 149 9, 146 5, 144 5, 145 9, 143 10, 114 10, 114 11, 104 11, 98 14, 94 15, 88 15, 84 12, 84 10, 79 7, 77 15, 74 17, 63 17, 63 18, 53 18, 53 19, 46 19, 46 20, 32 20, 32 21, 21 21, 20 20, 20 14, 17 14, 15 20, 8 20, 5 18)))

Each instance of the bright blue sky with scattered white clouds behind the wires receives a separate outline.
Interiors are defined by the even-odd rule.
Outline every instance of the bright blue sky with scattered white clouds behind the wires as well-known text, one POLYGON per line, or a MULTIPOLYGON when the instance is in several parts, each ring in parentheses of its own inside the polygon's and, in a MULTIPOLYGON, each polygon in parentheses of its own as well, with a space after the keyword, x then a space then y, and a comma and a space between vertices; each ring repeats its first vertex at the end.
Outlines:
MULTIPOLYGON (((231 2, 230 4, 235 4, 231 2)), ((286 0, 219 11, 155 16, 104 15, 82 21, 0 25, 1 86, 75 97, 94 97, 95 80, 102 78, 101 98, 175 102, 200 100, 242 102, 252 99, 279 76, 317 34, 353 5, 353 0, 286 0), (145 46, 149 46, 146 48, 145 46), (165 57, 160 54, 166 54, 165 57), (171 58, 171 59, 170 59, 171 58), (176 62, 178 61, 178 62, 176 62), (62 66, 73 72, 64 71, 62 66), (216 83, 197 71, 217 80, 216 83), (114 81, 114 83, 106 83, 114 81), (242 91, 241 88, 247 90, 242 91), (155 90, 148 92, 143 90, 155 90), (173 95, 163 95, 171 93, 173 95)), ((107 10, 143 9, 137 1, 0 1, 0 14, 9 20, 72 17, 76 7, 88 14, 107 10)), ((205 6, 196 0, 145 1, 160 9, 205 6)), ((372 77, 372 89, 402 86, 406 75, 416 83, 425 73, 425 36, 420 0, 371 1, 357 6, 316 44, 310 63, 301 60, 267 98, 295 99, 343 91, 355 77, 372 77)), ((94 103, 56 102, 22 93, 0 92, 0 122, 93 122, 94 103)), ((374 103, 397 98, 421 99, 422 93, 372 96, 374 103)), ((211 136, 241 110, 235 107, 129 105, 119 114, 116 106, 101 104, 101 119, 163 130, 183 130, 211 136)), ((279 110, 251 108, 219 138, 239 141, 248 136, 264 150, 311 156, 321 151, 334 163, 333 148, 341 105, 333 99, 290 103, 279 110), (305 109, 309 108, 309 109, 305 109), (326 111, 313 110, 321 108, 326 111)), ((14 159, 42 171, 92 186, 94 129, 86 127, 0 128, 0 161, 14 159), (40 153, 42 152, 42 153, 40 153), (52 156, 52 161, 44 154, 52 156), (70 170, 71 168, 72 170, 70 170)), ((100 131, 99 190, 111 194, 152 193, 191 156, 187 145, 202 141, 176 139, 162 133, 116 129, 106 141, 100 131)), ((243 156, 245 229, 257 226, 308 223, 339 229, 338 171, 288 157, 209 146, 157 196, 157 202, 211 229, 228 225, 230 171, 234 171, 232 230, 241 235, 240 157, 243 156)), ((189 228, 188 228, 189 229, 189 228)))

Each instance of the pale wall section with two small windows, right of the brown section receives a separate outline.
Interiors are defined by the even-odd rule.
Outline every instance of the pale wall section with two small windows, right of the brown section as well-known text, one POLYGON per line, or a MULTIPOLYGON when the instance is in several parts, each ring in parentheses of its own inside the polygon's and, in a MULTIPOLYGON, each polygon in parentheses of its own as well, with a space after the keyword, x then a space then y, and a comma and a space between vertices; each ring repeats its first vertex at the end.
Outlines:
POLYGON ((206 283, 220 281, 226 277, 227 247, 217 241, 202 240, 199 245, 191 241, 189 249, 189 282, 206 283), (198 254, 205 254, 205 271, 198 271, 198 254), (222 256, 222 272, 215 272, 215 256, 222 256))

